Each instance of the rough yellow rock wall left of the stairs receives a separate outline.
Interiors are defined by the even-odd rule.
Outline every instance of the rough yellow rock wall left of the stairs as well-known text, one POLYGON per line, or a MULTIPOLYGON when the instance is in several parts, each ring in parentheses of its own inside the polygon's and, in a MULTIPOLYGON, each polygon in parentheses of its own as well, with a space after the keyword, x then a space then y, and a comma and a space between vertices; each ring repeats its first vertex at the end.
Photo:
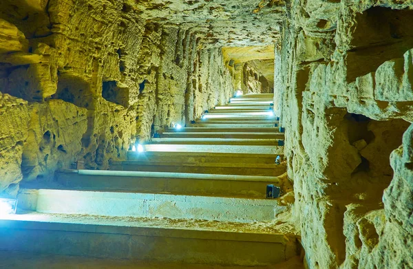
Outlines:
POLYGON ((233 94, 221 50, 127 1, 17 2, 0 3, 0 193, 77 160, 106 169, 233 94))

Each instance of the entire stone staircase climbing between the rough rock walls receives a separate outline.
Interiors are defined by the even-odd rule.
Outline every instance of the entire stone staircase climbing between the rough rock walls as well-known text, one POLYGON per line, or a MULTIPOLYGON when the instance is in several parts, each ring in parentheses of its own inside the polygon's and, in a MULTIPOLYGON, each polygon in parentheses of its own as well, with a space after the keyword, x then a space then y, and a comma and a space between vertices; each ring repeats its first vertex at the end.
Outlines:
POLYGON ((64 170, 21 186, 19 214, 0 219, 0 250, 279 268, 301 248, 282 217, 291 185, 275 164, 284 134, 272 100, 232 98, 159 131, 110 171, 64 170), (282 197, 266 199, 271 184, 282 197))

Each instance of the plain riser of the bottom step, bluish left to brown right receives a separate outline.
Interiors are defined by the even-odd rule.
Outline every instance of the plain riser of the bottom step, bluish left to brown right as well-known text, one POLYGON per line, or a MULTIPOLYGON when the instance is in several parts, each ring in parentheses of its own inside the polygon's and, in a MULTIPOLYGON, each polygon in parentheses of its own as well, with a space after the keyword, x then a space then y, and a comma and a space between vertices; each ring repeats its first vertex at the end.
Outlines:
POLYGON ((129 227, 110 229, 107 226, 89 225, 89 228, 79 224, 44 223, 37 227, 21 222, 0 223, 0 226, 6 226, 0 228, 0 250, 50 255, 224 266, 269 266, 295 255, 293 242, 235 241, 220 239, 220 233, 215 233, 214 239, 204 239, 202 232, 201 238, 185 238, 170 230, 156 235, 142 230, 140 235, 134 235, 131 234, 134 228, 129 227), (50 230, 45 230, 45 226, 50 230))

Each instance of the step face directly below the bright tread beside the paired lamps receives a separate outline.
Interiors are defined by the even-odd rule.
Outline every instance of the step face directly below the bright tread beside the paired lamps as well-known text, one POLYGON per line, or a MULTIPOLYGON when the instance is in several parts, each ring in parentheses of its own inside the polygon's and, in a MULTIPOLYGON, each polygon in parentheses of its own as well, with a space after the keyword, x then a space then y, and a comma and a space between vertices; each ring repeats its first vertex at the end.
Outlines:
POLYGON ((147 162, 195 162, 203 163, 245 163, 245 164, 274 164, 277 154, 248 154, 248 153, 218 153, 218 152, 168 152, 151 151, 137 153, 129 151, 129 161, 147 162))

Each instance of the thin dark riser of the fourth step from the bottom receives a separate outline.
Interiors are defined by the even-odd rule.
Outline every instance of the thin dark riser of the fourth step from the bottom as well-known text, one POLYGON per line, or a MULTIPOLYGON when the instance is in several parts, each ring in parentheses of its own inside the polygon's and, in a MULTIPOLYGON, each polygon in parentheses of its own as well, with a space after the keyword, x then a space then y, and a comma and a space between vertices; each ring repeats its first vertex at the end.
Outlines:
POLYGON ((282 175, 286 168, 279 166, 279 168, 243 168, 243 167, 205 167, 205 166, 139 166, 139 165, 114 165, 111 170, 117 171, 153 171, 153 172, 173 172, 173 173, 209 173, 220 175, 268 175, 279 176, 282 175))

